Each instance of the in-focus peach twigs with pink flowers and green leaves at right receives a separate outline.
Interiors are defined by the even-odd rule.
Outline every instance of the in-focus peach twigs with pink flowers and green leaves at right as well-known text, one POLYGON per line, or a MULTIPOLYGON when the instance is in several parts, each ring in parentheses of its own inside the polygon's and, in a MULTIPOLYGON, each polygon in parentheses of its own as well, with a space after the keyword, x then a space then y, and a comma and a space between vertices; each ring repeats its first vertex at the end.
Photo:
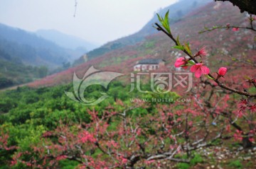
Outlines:
MULTIPOLYGON (((179 37, 174 38, 174 35, 171 33, 171 29, 169 28, 168 13, 169 12, 166 13, 166 16, 164 18, 159 16, 159 21, 161 22, 161 25, 156 23, 156 28, 157 28, 157 30, 161 30, 162 32, 164 32, 167 36, 169 36, 171 38, 171 40, 173 40, 175 42, 176 46, 174 46, 173 48, 180 49, 182 52, 184 52, 188 56, 188 58, 180 57, 180 58, 176 59, 174 66, 176 66, 176 67, 182 66, 183 69, 187 69, 188 66, 191 66, 190 71, 195 73, 196 78, 200 78, 202 75, 205 75, 207 78, 209 78, 211 81, 213 81, 215 83, 215 84, 213 84, 208 81, 204 81, 201 78, 201 83, 203 84, 204 88, 206 88, 206 85, 209 85, 211 88, 215 88, 215 86, 220 86, 220 88, 223 88, 223 89, 228 90, 233 93, 238 93, 239 95, 246 97, 246 98, 242 98, 240 100, 240 102, 238 102, 238 104, 237 104, 238 108, 233 110, 234 112, 232 112, 231 110, 228 110, 228 112, 225 112, 226 111, 225 110, 225 111, 218 112, 217 115, 222 115, 224 117, 229 118, 228 121, 230 122, 230 124, 233 127, 235 127, 235 129, 237 129, 238 134, 244 136, 244 137, 240 136, 240 140, 243 141, 244 147, 252 146, 252 140, 253 140, 252 136, 255 136, 255 132, 256 132, 255 122, 253 121, 253 113, 255 112, 255 106, 256 106, 256 103, 253 100, 255 100, 256 94, 249 93, 245 89, 243 91, 241 91, 241 90, 238 90, 237 88, 231 88, 230 86, 225 85, 223 83, 223 81, 220 81, 219 79, 224 77, 225 74, 227 73, 228 69, 225 67, 220 67, 218 72, 216 72, 217 76, 213 76, 212 74, 210 74, 210 69, 208 68, 208 66, 203 64, 203 57, 208 54, 206 51, 206 48, 202 47, 198 52, 196 52, 196 54, 192 54, 191 49, 189 47, 189 43, 186 43, 185 45, 181 45, 181 42, 179 41, 179 37), (198 61, 198 57, 200 57, 200 61, 198 61), (247 110, 248 110, 249 114, 248 114, 247 110), (250 124, 249 132, 243 132, 242 128, 239 127, 238 124, 236 124, 235 121, 232 120, 233 114, 236 115, 235 121, 238 120, 238 118, 242 118, 242 117, 245 118, 245 120, 248 122, 248 124, 250 124)), ((205 28, 205 30, 201 31, 200 33, 205 33, 207 31, 212 31, 212 30, 220 29, 220 28, 225 28, 225 29, 233 28, 232 29, 233 31, 238 31, 239 28, 244 28, 244 29, 256 31, 254 28, 254 23, 256 22, 256 17, 253 17, 252 15, 250 15, 250 17, 248 18, 248 21, 249 21, 248 27, 230 26, 230 24, 227 24, 225 26, 219 26, 219 27, 214 26, 213 28, 205 28)), ((255 66, 255 65, 252 65, 252 66, 255 66)), ((252 85, 256 88, 256 79, 255 78, 247 77, 246 81, 250 85, 252 85)), ((226 93, 226 91, 222 91, 222 92, 226 93)), ((210 105, 210 103, 214 103, 214 102, 210 102, 210 98, 212 97, 213 93, 215 93, 215 92, 212 90, 210 92, 210 97, 209 97, 207 103, 205 104, 206 108, 213 107, 212 105, 210 105)), ((198 102, 198 104, 202 104, 202 103, 198 102)), ((216 107, 214 108, 214 110, 215 109, 216 109, 216 107)), ((211 112, 211 113, 213 113, 213 112, 211 112)), ((238 136, 238 135, 236 134, 235 136, 238 136)))

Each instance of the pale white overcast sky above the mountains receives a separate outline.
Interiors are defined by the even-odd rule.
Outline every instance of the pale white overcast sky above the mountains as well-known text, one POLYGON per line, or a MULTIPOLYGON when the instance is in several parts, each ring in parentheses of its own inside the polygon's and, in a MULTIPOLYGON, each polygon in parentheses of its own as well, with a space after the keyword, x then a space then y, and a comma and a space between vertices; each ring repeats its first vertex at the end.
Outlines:
POLYGON ((178 0, 0 0, 0 23, 29 31, 55 29, 102 45, 140 30, 159 8, 178 0))

